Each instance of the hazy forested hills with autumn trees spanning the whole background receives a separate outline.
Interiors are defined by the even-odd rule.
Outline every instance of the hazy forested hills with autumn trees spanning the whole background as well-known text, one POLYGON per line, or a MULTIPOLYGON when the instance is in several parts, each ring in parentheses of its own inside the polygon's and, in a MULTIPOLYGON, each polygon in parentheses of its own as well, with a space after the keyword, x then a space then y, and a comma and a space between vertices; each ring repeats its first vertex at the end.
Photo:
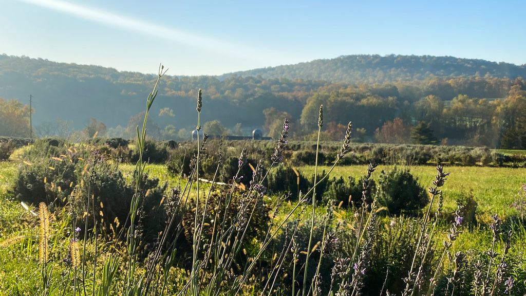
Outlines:
MULTIPOLYGON (((524 71, 522 66, 451 57, 374 57, 355 56, 355 60, 364 67, 381 65, 406 74, 356 70, 363 78, 356 83, 263 75, 165 76, 150 111, 148 134, 156 139, 189 139, 197 123, 196 96, 201 88, 201 123, 210 134, 248 135, 259 128, 276 137, 287 117, 291 137, 308 140, 314 136, 309 133, 316 130, 323 104, 324 140, 339 140, 352 121, 355 141, 526 148, 526 82, 515 77, 524 71), (480 71, 483 68, 485 73, 480 71)), ((309 67, 320 65, 319 73, 328 75, 335 61, 315 61, 309 67)), ((339 61, 347 63, 346 57, 339 61)), ((359 69, 356 64, 355 68, 359 69)), ((355 73, 345 67, 332 72, 355 73)), ((155 78, 0 55, 0 135, 29 135, 31 94, 33 135, 75 140, 98 132, 133 138, 155 78)))

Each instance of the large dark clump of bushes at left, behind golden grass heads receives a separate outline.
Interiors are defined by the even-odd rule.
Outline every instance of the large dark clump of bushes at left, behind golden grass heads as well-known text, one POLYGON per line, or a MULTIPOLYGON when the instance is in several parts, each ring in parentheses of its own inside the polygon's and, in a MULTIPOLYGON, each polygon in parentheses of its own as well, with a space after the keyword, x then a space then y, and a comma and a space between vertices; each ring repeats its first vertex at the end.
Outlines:
MULTIPOLYGON (((45 202, 50 210, 72 205, 77 224, 83 229, 86 221, 87 230, 92 230, 97 221, 100 231, 117 232, 128 219, 135 191, 118 170, 118 163, 110 164, 98 150, 77 151, 64 141, 57 142, 57 139, 37 140, 33 149, 22 156, 25 162, 20 164, 13 193, 27 203, 45 202), (83 215, 88 201, 94 211, 83 215)), ((145 196, 144 224, 148 225, 148 232, 153 233, 150 236, 162 230, 157 222, 165 219, 159 205, 166 186, 147 175, 141 180, 141 193, 145 196)))

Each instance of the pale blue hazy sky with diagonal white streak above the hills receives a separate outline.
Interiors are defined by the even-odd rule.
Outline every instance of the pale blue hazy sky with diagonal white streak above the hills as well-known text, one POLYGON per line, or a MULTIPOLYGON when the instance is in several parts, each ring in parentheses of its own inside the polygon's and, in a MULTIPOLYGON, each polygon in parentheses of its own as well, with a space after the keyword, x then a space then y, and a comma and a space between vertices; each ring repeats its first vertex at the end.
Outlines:
POLYGON ((0 0, 0 54, 216 75, 348 54, 526 63, 525 1, 0 0))

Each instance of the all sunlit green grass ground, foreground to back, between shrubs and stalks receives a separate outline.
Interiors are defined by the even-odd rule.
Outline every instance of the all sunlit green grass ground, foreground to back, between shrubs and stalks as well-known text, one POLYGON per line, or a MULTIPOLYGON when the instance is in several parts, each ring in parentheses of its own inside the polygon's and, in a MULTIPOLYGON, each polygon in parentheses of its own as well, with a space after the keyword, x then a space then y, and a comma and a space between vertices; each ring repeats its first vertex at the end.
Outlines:
MULTIPOLYGON (((12 160, 7 162, 0 162, 0 242, 14 235, 24 235, 27 237, 22 243, 17 245, 8 246, 7 248, 0 248, 0 295, 35 295, 39 291, 39 281, 42 281, 40 265, 38 263, 38 217, 34 216, 31 212, 24 209, 19 201, 14 200, 14 196, 9 194, 9 191, 13 188, 13 180, 17 175, 17 167, 21 164, 21 161, 12 160)), ((431 185, 431 182, 436 175, 436 168, 434 166, 411 166, 404 167, 410 169, 410 172, 418 177, 420 185, 424 188, 431 185)), ((119 164, 119 170, 123 172, 127 182, 133 182, 133 170, 135 165, 133 164, 119 164)), ((308 176, 314 171, 313 166, 301 166, 297 168, 302 174, 308 176)), ((372 174, 372 179, 378 179, 382 170, 390 170, 391 166, 378 166, 377 170, 372 174)), ((328 171, 329 167, 321 166, 318 167, 318 171, 328 171)), ((367 167, 363 165, 353 166, 337 166, 331 173, 331 177, 347 177, 353 176, 359 178, 366 173, 367 167)), ((168 182, 169 188, 181 185, 180 182, 184 182, 184 179, 179 179, 173 175, 170 175, 167 171, 166 165, 162 164, 148 164, 145 172, 150 177, 157 177, 161 182, 168 182)), ((483 252, 491 249, 492 247, 492 235, 488 228, 490 223, 490 214, 497 213, 502 218, 506 219, 510 216, 517 215, 514 208, 510 208, 511 203, 517 196, 521 185, 526 182, 526 169, 511 169, 511 168, 499 168, 499 167, 478 167, 478 166, 451 166, 444 167, 444 172, 450 173, 447 177, 446 184, 441 188, 444 192, 444 209, 445 211, 453 212, 456 208, 456 199, 462 195, 467 195, 471 190, 478 203, 477 219, 479 222, 476 225, 471 225, 468 230, 464 230, 462 234, 458 236, 456 243, 451 248, 451 253, 457 251, 467 252, 470 260, 477 258, 484 258, 483 252)), ((201 190, 208 188, 207 184, 202 184, 201 190)), ((195 196, 191 193, 190 196, 195 196)), ((269 196, 271 199, 276 200, 276 196, 269 196)), ((283 213, 286 210, 291 209, 294 206, 285 205, 276 219, 280 221, 283 218, 283 213)), ((38 211, 38 210, 34 210, 38 211)), ((308 219, 310 206, 306 205, 305 211, 302 214, 301 219, 308 219)), ((322 215, 324 210, 319 208, 318 212, 322 215)), ((353 214, 350 210, 338 209, 335 210, 337 216, 346 217, 346 220, 352 220, 353 214)), ((417 218, 407 218, 406 221, 416 220, 417 218)), ((379 221, 378 227, 385 228, 390 235, 390 229, 395 227, 392 226, 392 221, 396 218, 383 217, 379 221), (391 221, 391 224, 389 223, 391 221)), ((67 238, 70 236, 68 233, 67 223, 69 221, 68 215, 65 212, 55 212, 52 215, 52 227, 56 230, 52 236, 54 240, 53 245, 53 261, 55 263, 55 270, 51 273, 55 278, 55 281, 60 279, 59 270, 63 269, 63 265, 60 261, 67 256, 68 249, 67 245, 63 245, 61 240, 64 236, 67 238)), ((304 222, 302 225, 305 225, 304 222)), ((449 224, 441 222, 439 224, 436 236, 433 238, 434 248, 441 250, 442 241, 447 237, 449 224)), ((513 269, 507 274, 515 274, 517 279, 518 287, 523 289, 526 283, 526 231, 520 224, 513 224, 506 221, 506 228, 514 231, 512 239, 512 247, 509 250, 510 263, 513 263, 513 269), (521 281, 521 282, 520 282, 521 281)), ((387 235, 383 232, 382 235, 387 235)), ((93 241, 90 240, 86 245, 86 256, 91 258, 93 256, 93 241)), ((99 242, 99 247, 104 250, 106 247, 99 242)), ((503 253, 503 243, 497 243, 495 251, 503 253)), ((125 255, 123 255, 125 258, 125 255)), ((434 255, 437 256, 437 255, 434 255)), ((86 268, 93 269, 94 265, 92 261, 85 263, 86 268)), ((434 259, 436 260, 436 258, 434 259)), ((99 258, 99 267, 104 264, 104 257, 99 258)), ((448 264, 452 262, 448 261, 448 264)), ((179 267, 178 267, 179 268, 179 267)), ((446 267, 444 267, 446 268, 446 267)), ((451 265, 447 267, 451 268, 451 265)), ((179 269, 177 269, 179 270, 179 269)), ((182 270, 179 270, 182 272, 182 270)), ((472 272, 472 271, 470 271, 472 272)), ((97 277, 100 276, 97 271, 97 277)), ((120 274, 116 279, 118 287, 122 287, 125 284, 125 278, 123 274, 120 274)), ((393 277, 402 277, 403 275, 393 275, 393 277)), ((174 293, 177 289, 182 287, 181 283, 184 283, 185 278, 180 275, 171 275, 169 278, 169 287, 174 293), (178 288, 177 288, 178 287, 178 288)), ((252 283, 254 286, 252 289, 256 291, 256 283, 252 283)), ((249 288, 250 289, 250 288, 249 288)), ((521 290, 522 291, 522 290, 521 290)), ((245 292, 245 294, 250 294, 245 292)), ((69 295, 66 293, 66 295, 69 295)), ((522 294, 520 294, 522 295, 522 294)))

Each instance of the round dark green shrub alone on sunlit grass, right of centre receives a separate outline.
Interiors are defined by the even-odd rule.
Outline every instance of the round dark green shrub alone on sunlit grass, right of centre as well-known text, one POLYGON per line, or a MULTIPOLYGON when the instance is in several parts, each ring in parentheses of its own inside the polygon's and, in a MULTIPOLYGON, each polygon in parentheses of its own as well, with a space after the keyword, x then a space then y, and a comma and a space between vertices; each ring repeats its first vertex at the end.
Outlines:
POLYGON ((378 202, 386 206, 391 214, 414 213, 428 202, 426 190, 418 179, 407 170, 396 166, 389 172, 382 171, 378 181, 378 202))

